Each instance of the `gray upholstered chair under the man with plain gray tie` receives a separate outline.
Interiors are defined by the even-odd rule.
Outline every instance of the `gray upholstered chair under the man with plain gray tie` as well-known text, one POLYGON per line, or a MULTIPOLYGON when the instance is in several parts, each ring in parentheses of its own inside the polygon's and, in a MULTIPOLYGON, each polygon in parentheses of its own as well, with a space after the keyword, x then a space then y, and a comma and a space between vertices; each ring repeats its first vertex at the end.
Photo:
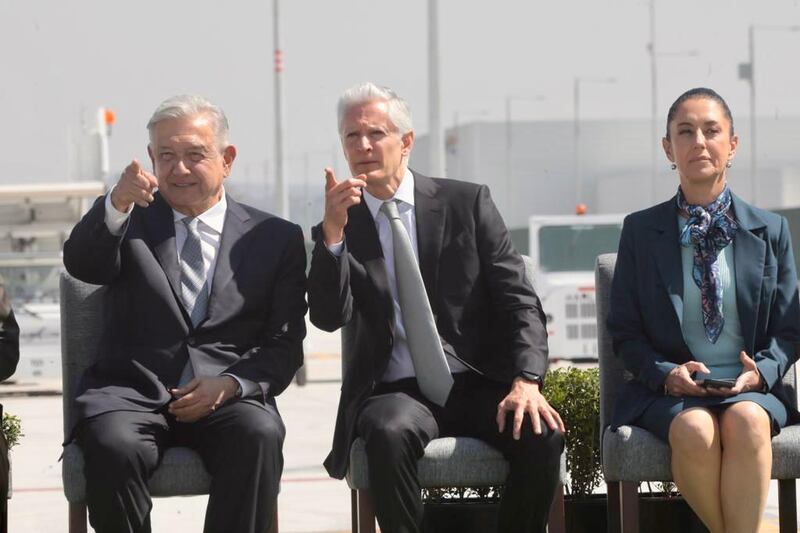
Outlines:
MULTIPOLYGON (((532 280, 532 263, 525 260, 528 279, 532 280)), ((348 362, 352 341, 347 327, 342 328, 342 371, 348 362)), ((481 440, 470 437, 445 437, 433 439, 425 448, 425 455, 417 465, 420 485, 435 487, 486 487, 503 485, 508 477, 508 462, 503 455, 481 440)), ((556 492, 550 510, 548 530, 563 533, 564 520, 563 482, 566 477, 565 455, 561 455, 561 486, 556 492)), ((350 448, 350 468, 347 484, 351 490, 353 533, 375 533, 375 510, 369 492, 369 470, 364 441, 356 439, 350 448)))

